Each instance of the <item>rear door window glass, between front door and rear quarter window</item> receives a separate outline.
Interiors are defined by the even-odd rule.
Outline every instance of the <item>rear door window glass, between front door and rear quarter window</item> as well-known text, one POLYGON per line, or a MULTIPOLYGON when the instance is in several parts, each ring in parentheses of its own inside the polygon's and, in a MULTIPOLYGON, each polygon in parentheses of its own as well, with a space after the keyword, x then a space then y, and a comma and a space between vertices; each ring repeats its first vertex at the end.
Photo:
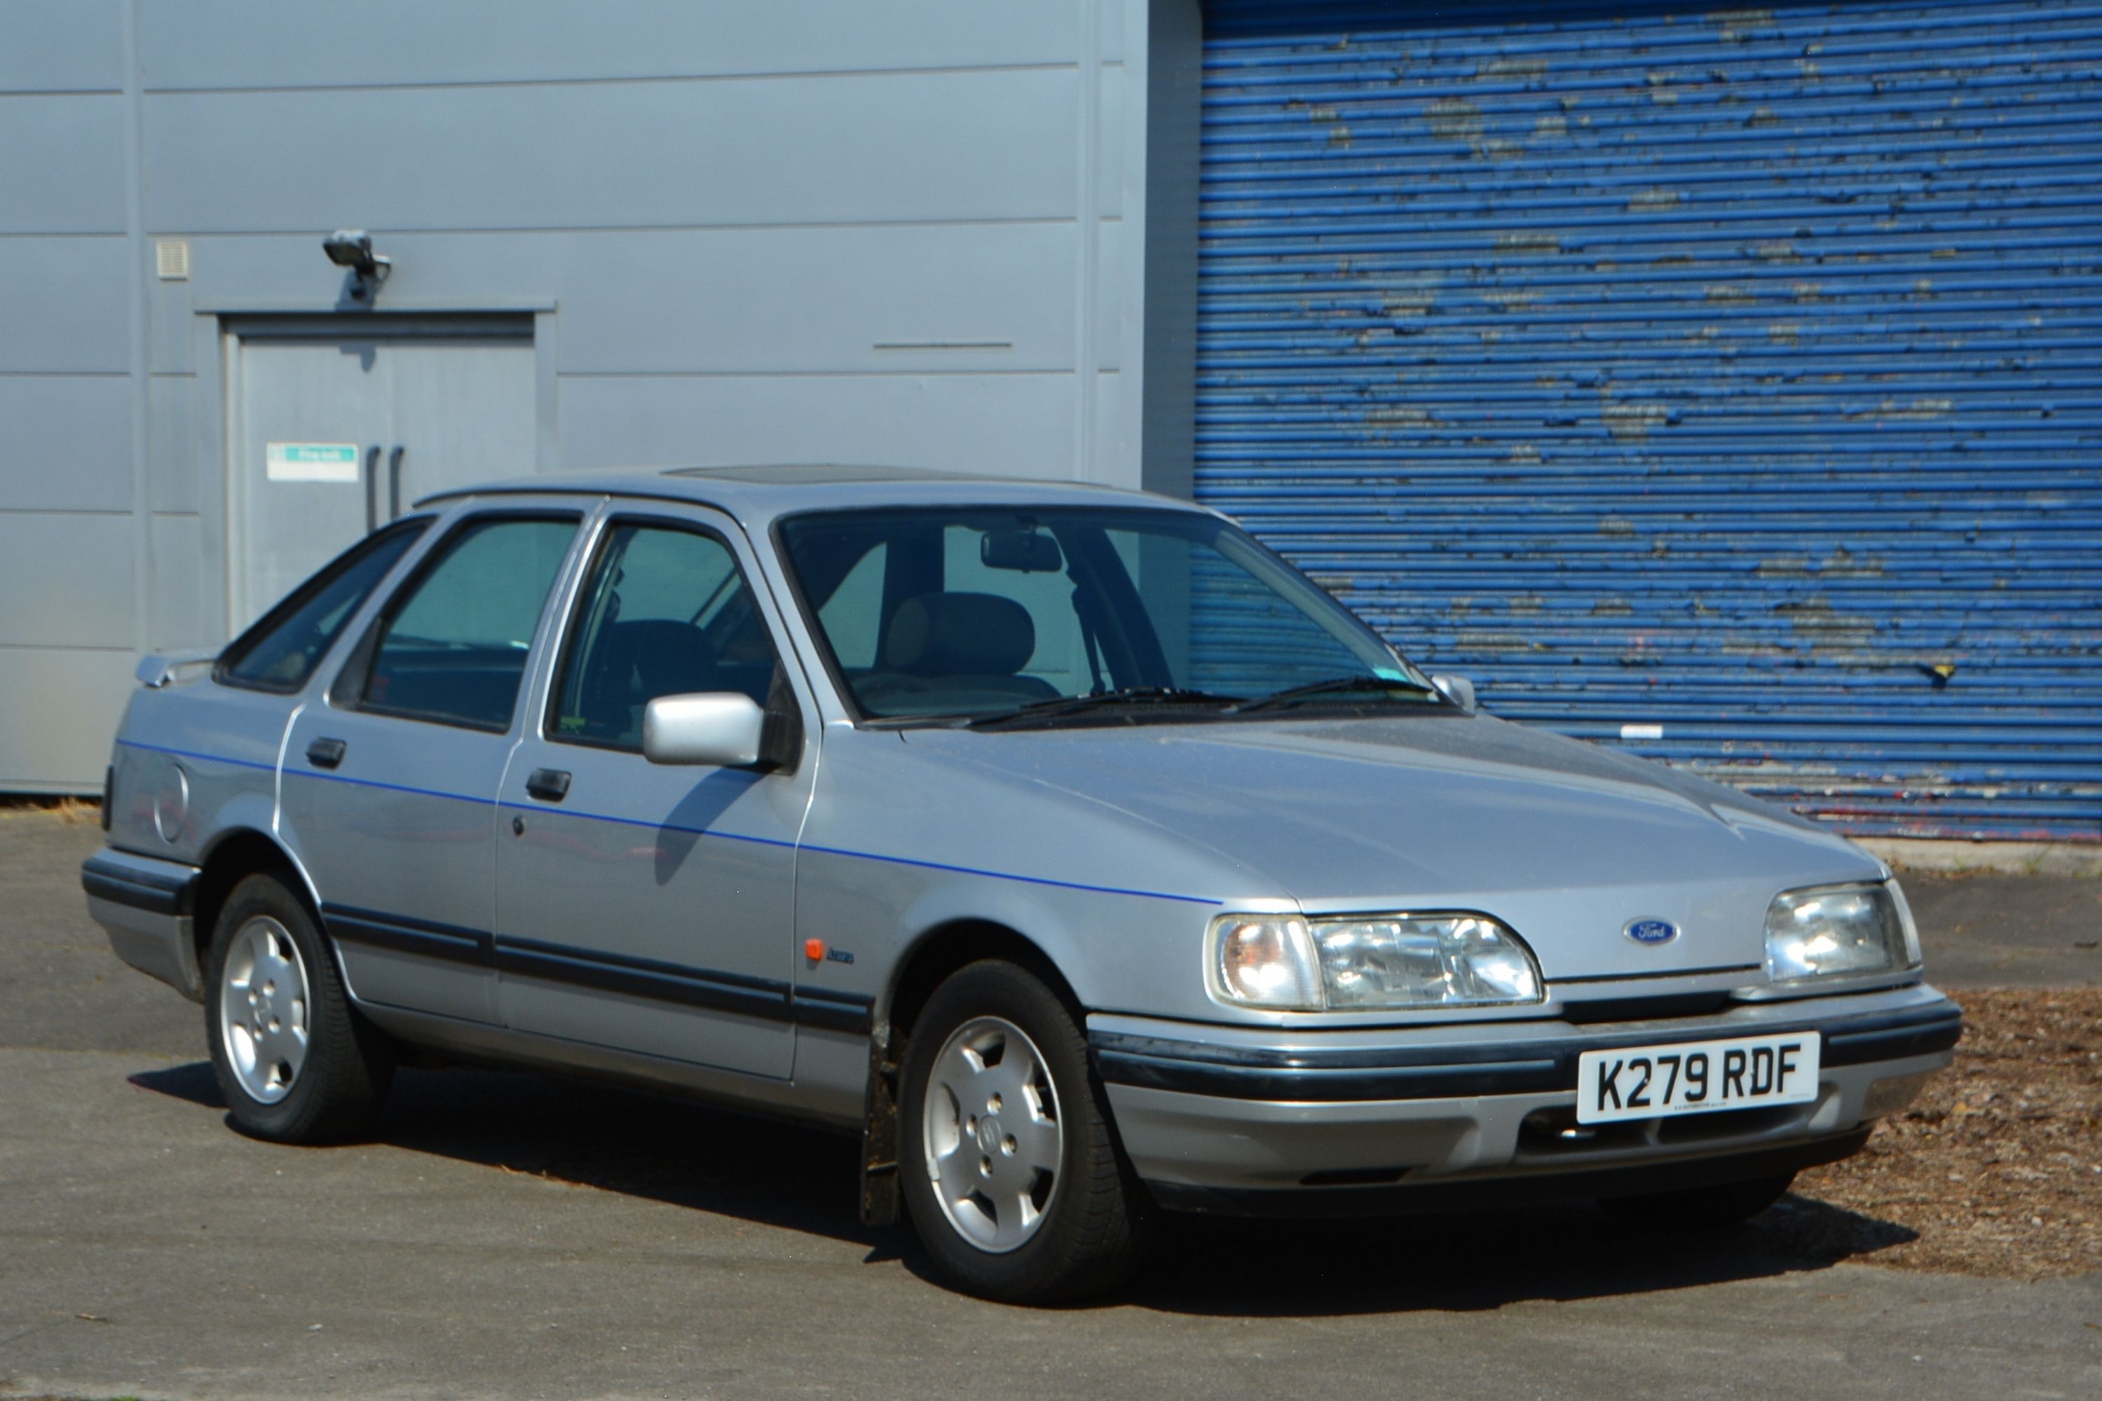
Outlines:
POLYGON ((380 615, 362 710, 504 731, 576 517, 469 521, 380 615))

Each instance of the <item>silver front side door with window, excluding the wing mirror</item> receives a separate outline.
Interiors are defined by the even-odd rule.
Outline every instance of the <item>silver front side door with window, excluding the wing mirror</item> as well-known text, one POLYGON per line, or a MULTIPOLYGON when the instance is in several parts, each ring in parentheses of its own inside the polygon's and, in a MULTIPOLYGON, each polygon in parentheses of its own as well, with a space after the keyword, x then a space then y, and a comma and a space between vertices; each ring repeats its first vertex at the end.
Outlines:
POLYGON ((504 1025, 786 1078, 795 844, 816 748, 805 681, 736 525, 614 515, 576 592, 549 702, 502 786, 496 966, 504 1025), (656 695, 742 691, 784 762, 652 765, 656 695))

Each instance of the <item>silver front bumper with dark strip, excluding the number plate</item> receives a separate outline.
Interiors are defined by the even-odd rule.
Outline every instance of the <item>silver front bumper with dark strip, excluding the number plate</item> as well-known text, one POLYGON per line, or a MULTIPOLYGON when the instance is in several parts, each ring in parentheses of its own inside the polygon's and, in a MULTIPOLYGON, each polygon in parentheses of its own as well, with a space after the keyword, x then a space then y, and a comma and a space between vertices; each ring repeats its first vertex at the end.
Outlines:
POLYGON ((1089 1046, 1125 1151, 1162 1206, 1324 1214, 1600 1197, 1833 1162, 1949 1065, 1961 1029, 1949 998, 1915 985, 1606 1025, 1286 1036, 1091 1017, 1089 1046), (1822 1036, 1810 1103, 1574 1122, 1585 1050, 1810 1029, 1822 1036))

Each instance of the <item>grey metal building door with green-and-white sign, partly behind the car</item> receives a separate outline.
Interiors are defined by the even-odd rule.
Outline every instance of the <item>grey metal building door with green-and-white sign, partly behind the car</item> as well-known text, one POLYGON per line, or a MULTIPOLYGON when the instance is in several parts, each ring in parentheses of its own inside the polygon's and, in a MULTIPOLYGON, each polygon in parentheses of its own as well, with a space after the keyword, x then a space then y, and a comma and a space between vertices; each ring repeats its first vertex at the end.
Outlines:
POLYGON ((534 471, 532 317, 233 328, 229 626, 431 492, 534 471))

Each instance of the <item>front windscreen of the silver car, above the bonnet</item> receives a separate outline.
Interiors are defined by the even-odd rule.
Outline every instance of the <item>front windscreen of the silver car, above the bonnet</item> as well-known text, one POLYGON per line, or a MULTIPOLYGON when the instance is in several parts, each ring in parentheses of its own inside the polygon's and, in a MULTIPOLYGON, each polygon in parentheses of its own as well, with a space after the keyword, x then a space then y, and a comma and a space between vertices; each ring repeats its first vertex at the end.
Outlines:
POLYGON ((1299 689, 1289 704, 1438 706, 1335 599, 1194 510, 813 513, 778 536, 862 718, 1066 718, 1137 702, 1200 718, 1299 689))

